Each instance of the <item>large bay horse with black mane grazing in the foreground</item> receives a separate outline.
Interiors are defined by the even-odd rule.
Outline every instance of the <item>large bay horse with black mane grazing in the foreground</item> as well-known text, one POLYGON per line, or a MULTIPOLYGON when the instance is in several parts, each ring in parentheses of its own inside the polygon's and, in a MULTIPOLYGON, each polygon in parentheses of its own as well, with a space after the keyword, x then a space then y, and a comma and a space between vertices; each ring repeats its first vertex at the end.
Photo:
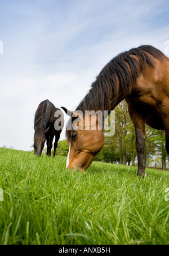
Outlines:
MULTIPOLYGON (((166 131, 166 150, 169 154, 169 59, 153 46, 143 45, 113 58, 97 76, 77 110, 113 110, 126 99, 128 111, 135 126, 138 175, 145 173, 145 123, 166 131)), ((72 116, 82 114, 64 110, 72 116)), ((82 126, 82 124, 81 124, 82 126)), ((70 140, 67 167, 87 169, 104 145, 103 131, 96 118, 96 130, 83 125, 83 129, 67 129, 70 140)), ((81 127, 82 128, 82 127, 81 127)))

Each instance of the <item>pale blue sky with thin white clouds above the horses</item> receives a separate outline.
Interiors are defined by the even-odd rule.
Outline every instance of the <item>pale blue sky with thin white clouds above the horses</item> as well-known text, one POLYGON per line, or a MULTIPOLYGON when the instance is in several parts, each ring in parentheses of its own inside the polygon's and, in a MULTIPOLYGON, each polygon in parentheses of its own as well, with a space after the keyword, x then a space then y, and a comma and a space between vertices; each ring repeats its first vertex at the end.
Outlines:
POLYGON ((32 150, 38 105, 74 110, 117 54, 169 57, 168 13, 168 0, 0 0, 0 147, 32 150))

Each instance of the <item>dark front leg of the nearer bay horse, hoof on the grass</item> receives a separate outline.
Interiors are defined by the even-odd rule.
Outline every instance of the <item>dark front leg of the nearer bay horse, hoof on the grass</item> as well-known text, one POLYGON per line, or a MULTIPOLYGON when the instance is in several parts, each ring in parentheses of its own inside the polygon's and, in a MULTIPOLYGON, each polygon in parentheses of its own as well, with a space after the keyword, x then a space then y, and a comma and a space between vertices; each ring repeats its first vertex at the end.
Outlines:
POLYGON ((138 176, 146 177, 145 172, 145 121, 144 117, 141 116, 135 109, 128 107, 128 111, 130 113, 132 122, 135 126, 135 133, 136 133, 136 151, 137 151, 137 158, 138 158, 138 176))

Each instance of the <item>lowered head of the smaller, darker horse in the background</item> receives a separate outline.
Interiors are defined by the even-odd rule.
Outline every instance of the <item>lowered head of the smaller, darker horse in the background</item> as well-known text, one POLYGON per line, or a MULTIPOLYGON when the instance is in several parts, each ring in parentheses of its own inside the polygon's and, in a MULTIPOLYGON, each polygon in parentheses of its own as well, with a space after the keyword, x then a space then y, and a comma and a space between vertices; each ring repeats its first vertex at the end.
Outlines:
POLYGON ((42 150, 45 146, 46 142, 46 133, 49 131, 50 127, 48 129, 42 128, 41 130, 37 130, 37 127, 34 126, 35 134, 34 134, 34 154, 37 156, 42 155, 42 150))

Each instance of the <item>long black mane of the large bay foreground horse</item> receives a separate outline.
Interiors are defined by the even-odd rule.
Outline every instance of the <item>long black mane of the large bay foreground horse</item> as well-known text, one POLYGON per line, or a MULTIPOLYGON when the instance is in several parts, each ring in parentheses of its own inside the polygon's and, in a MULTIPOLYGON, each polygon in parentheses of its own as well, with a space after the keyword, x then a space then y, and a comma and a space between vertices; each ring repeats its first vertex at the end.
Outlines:
MULTIPOLYGON (((140 75, 140 66, 134 56, 139 59, 141 69, 145 74, 148 65, 154 67, 152 56, 162 61, 164 54, 150 45, 143 45, 119 54, 101 70, 76 110, 81 110, 83 114, 85 110, 109 110, 109 102, 116 92, 117 82, 124 96, 127 96, 131 84, 136 84, 136 79, 140 75)), ((66 130, 66 138, 70 140, 70 137, 71 131, 66 130)))

